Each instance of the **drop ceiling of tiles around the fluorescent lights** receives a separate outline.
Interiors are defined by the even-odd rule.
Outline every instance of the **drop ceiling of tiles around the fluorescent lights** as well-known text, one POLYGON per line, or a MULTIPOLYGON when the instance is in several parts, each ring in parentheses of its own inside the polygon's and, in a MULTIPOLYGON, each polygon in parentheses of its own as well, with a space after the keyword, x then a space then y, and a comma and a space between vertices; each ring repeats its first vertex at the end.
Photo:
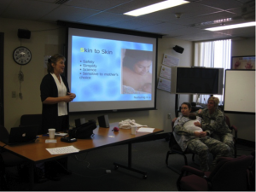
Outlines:
MULTIPOLYGON (((255 2, 255 0, 253 1, 255 2)), ((204 30, 204 28, 212 26, 253 21, 252 19, 245 20, 241 16, 241 6, 247 3, 247 0, 191 0, 190 3, 148 15, 138 17, 123 15, 132 9, 158 2, 161 1, 1 0, 0 17, 44 22, 65 20, 81 24, 157 33, 164 37, 188 41, 256 37, 256 26, 219 32, 204 30), (232 20, 212 24, 213 20, 219 21, 227 18, 232 18, 232 20)))

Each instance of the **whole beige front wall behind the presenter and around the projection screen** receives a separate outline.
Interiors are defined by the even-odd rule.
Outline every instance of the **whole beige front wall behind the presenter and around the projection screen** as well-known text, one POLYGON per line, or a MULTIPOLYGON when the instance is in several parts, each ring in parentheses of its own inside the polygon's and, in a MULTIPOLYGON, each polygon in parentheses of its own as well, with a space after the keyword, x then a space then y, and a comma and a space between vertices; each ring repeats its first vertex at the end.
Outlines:
MULTIPOLYGON (((0 18, 0 32, 4 32, 4 125, 7 129, 20 125, 22 114, 41 113, 39 86, 46 69, 44 67, 44 55, 62 53, 65 43, 65 29, 54 23, 43 23, 26 20, 10 20, 0 18), (32 51, 32 61, 22 66, 24 81, 21 82, 23 99, 19 96, 12 98, 12 91, 18 94, 20 84, 18 73, 20 66, 12 58, 13 51, 20 46, 20 38, 17 37, 18 29, 28 29, 32 32, 30 39, 22 39, 21 45, 32 51)), ((164 54, 172 55, 180 59, 180 66, 192 65, 192 43, 174 38, 159 39, 158 48, 158 76, 164 54), (178 54, 172 47, 179 45, 184 48, 183 54, 178 54)), ((187 102, 188 96, 182 96, 181 102, 187 102)), ((167 119, 167 113, 172 113, 174 118, 175 96, 164 90, 157 90, 157 110, 108 113, 110 122, 123 119, 135 119, 137 123, 171 131, 171 119, 167 119)), ((105 113, 104 113, 105 114, 105 113)), ((70 124, 74 125, 74 119, 96 119, 102 113, 72 114, 70 124)))

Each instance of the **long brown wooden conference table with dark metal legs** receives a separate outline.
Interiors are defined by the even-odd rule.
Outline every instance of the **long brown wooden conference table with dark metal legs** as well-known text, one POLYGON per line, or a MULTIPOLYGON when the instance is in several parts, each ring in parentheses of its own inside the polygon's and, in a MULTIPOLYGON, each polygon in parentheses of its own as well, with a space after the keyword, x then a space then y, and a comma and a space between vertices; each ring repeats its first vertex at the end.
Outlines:
POLYGON ((77 153, 71 154, 50 154, 46 148, 60 148, 73 146, 79 149, 79 154, 83 152, 88 152, 90 150, 95 150, 97 148, 104 148, 119 144, 128 144, 128 165, 120 165, 118 163, 113 163, 114 168, 122 167, 133 172, 138 172, 143 174, 143 177, 147 177, 146 172, 133 169, 131 166, 131 144, 144 137, 152 136, 153 134, 159 133, 163 130, 154 128, 153 132, 137 132, 136 135, 131 134, 131 129, 119 129, 119 131, 113 131, 113 127, 119 127, 119 123, 111 123, 109 128, 97 127, 93 133, 94 135, 86 139, 77 139, 74 143, 64 143, 61 142, 61 137, 55 137, 56 143, 45 143, 49 137, 38 136, 35 143, 26 143, 20 145, 5 145, 0 142, 0 146, 6 148, 9 152, 19 155, 21 158, 27 160, 29 164, 29 191, 33 191, 34 185, 34 171, 33 167, 35 164, 40 162, 46 162, 50 160, 58 160, 63 157, 68 157, 77 153))

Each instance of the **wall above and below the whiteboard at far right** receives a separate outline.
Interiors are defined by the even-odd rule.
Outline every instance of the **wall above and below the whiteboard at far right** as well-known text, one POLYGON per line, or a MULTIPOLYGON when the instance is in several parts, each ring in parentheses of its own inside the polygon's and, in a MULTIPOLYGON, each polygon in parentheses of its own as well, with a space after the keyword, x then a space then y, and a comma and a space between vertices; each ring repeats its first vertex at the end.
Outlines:
MULTIPOLYGON (((256 38, 232 41, 231 56, 256 55, 255 44, 256 38)), ((256 105, 256 99, 252 105, 256 105)), ((238 138, 256 142, 256 114, 227 113, 227 115, 231 124, 236 125, 238 129, 238 138)))

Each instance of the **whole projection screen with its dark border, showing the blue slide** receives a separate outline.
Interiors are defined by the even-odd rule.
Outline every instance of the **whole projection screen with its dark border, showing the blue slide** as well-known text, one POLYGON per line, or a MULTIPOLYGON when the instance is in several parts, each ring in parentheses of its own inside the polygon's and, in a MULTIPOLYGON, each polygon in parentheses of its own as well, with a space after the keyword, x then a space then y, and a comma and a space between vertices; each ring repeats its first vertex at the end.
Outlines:
POLYGON ((155 109, 156 55, 157 38, 68 28, 70 112, 155 109))

